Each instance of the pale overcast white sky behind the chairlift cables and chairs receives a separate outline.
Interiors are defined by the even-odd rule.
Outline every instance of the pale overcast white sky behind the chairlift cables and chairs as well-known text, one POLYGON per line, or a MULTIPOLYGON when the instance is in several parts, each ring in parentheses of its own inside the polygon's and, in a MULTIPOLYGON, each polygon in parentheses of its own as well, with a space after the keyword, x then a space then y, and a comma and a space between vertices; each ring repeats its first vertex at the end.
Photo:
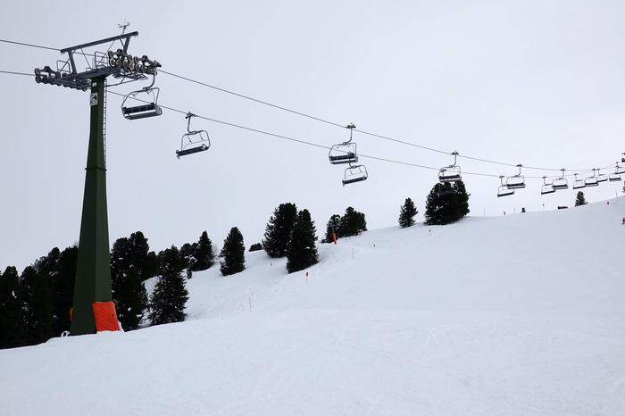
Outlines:
MULTIPOLYGON (((114 36, 131 21, 130 54, 359 129, 461 154, 546 167, 596 167, 625 151, 625 4, 525 2, 124 2, 95 10, 10 2, 0 37, 66 47, 114 36)), ((0 44, 0 70, 30 72, 61 54, 0 44)), ((161 74, 162 104, 321 145, 347 131, 161 74)), ((129 92, 138 84, 118 87, 129 92)), ((20 269, 79 239, 88 95, 0 74, 0 266, 20 269)), ((108 96, 110 240, 142 230, 151 248, 215 245, 238 226, 259 242, 281 202, 308 208, 321 237, 332 213, 365 212, 371 229, 396 224, 412 197, 421 213, 436 171, 363 159, 370 179, 342 187, 322 149, 209 121, 209 152, 177 160, 181 114, 126 121, 108 96)), ((356 134, 362 153, 431 166, 451 159, 356 134)), ((512 174, 460 160, 466 171, 512 174)), ((542 172, 528 171, 528 175, 542 172)), ((541 180, 498 200, 498 179, 466 176, 471 214, 571 205, 572 189, 541 198, 541 180)), ((585 189, 614 196, 622 183, 585 189)), ((512 237, 512 236, 511 236, 512 237)))

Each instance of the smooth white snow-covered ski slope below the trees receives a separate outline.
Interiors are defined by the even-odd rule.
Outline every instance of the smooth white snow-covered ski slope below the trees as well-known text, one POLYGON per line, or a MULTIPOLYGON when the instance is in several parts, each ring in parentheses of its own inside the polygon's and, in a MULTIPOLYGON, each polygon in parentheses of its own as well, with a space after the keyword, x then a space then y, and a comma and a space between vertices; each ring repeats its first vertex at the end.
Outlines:
POLYGON ((185 322, 0 351, 0 413, 625 414, 624 216, 377 229, 307 277, 246 253, 187 281, 185 322))

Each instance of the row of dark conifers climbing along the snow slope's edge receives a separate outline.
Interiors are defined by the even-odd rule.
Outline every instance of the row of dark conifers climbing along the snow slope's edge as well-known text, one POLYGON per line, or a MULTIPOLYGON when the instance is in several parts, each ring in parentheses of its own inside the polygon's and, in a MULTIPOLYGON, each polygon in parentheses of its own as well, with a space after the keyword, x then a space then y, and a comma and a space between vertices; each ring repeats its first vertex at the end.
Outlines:
MULTIPOLYGON (((468 199, 462 182, 457 182, 454 192, 447 195, 433 187, 426 204, 426 224, 461 219, 469 212, 468 199)), ((412 199, 407 198, 400 209, 400 226, 412 226, 417 213, 412 199)), ((321 243, 357 236, 366 230, 365 214, 350 206, 343 215, 329 218, 321 243)), ((249 251, 264 250, 271 258, 286 257, 287 272, 293 273, 319 262, 316 233, 308 210, 298 210, 293 203, 279 204, 266 224, 262 242, 251 245, 249 251)), ((237 227, 229 230, 218 256, 206 231, 195 243, 180 248, 171 245, 158 254, 150 251, 141 231, 117 239, 111 249, 112 298, 122 328, 133 330, 185 320, 187 279, 218 261, 223 276, 243 271, 245 251, 237 227), (145 282, 156 276, 159 279, 148 295, 145 282)), ((21 274, 12 266, 0 273, 0 348, 39 344, 70 329, 77 258, 76 246, 63 251, 55 247, 21 274)))

